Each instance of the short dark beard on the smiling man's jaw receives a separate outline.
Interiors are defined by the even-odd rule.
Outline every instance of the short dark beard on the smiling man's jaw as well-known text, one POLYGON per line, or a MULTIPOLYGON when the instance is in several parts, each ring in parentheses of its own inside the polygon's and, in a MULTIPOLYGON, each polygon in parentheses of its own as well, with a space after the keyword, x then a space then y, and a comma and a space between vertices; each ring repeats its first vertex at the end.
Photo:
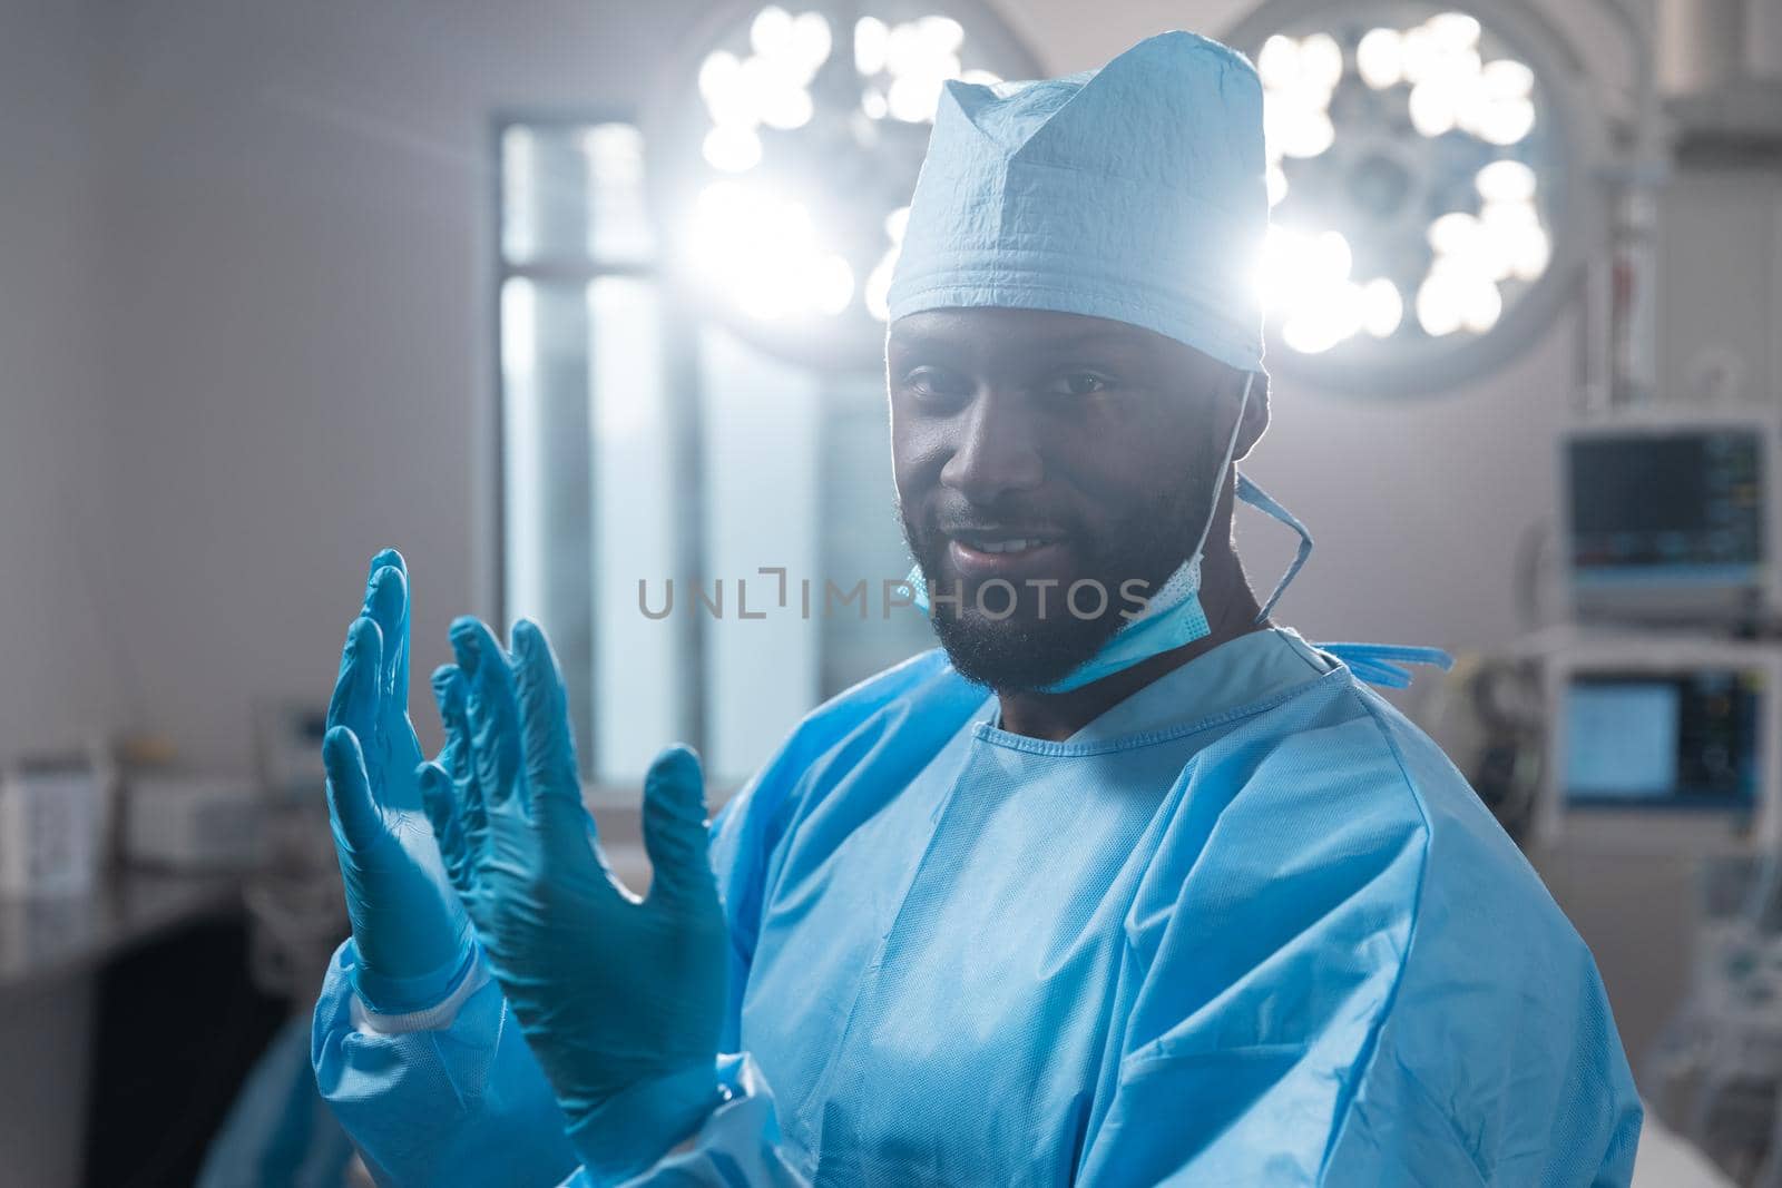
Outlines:
MULTIPOLYGON (((1196 481, 1192 486, 1198 488, 1199 483, 1196 481)), ((1174 490, 1162 492, 1144 509, 1124 518, 1101 540, 1091 541, 1082 534, 1073 534, 1073 545, 1083 550, 1083 568, 1076 581, 1099 582, 1107 593, 1107 606, 1101 607, 1099 614, 1071 613, 1066 609, 1066 591, 1053 588, 1044 618, 1037 614, 1034 606, 1028 606, 1030 598, 1023 598, 1012 614, 994 620, 977 609, 977 591, 969 584, 959 590, 962 598, 957 606, 932 602, 934 593, 955 593, 953 582, 957 579, 937 577, 944 572, 943 557, 948 540, 934 525, 923 525, 923 531, 918 533, 909 522, 907 511, 898 509, 903 538, 928 582, 934 606, 928 622, 946 650, 946 657, 966 680, 998 693, 1042 691, 1087 663, 1128 623, 1123 611, 1135 613, 1132 600, 1124 597, 1123 584, 1137 579, 1144 582, 1140 597, 1155 595, 1194 550, 1206 515, 1205 492, 1196 493, 1189 483, 1180 483, 1174 490), (937 590, 937 586, 944 588, 937 590)), ((985 602, 993 609, 1003 606, 994 597, 985 598, 985 602)))

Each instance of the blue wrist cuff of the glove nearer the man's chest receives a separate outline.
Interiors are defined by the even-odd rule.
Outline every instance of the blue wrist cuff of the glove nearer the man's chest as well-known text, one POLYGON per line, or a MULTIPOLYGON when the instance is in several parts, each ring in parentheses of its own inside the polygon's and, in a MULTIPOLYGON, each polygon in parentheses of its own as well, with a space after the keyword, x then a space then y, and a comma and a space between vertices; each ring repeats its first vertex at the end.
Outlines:
POLYGON ((640 1081, 572 1120, 568 1140, 597 1184, 647 1170, 725 1099, 715 1063, 640 1081))

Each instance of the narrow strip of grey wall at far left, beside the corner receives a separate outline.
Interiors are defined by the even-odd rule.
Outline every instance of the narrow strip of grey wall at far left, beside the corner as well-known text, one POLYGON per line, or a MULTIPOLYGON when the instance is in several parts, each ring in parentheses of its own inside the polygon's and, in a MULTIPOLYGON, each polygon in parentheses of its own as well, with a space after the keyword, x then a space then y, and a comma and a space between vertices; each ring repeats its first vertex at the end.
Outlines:
POLYGON ((98 75, 82 5, 0 0, 0 757, 110 718, 98 75))

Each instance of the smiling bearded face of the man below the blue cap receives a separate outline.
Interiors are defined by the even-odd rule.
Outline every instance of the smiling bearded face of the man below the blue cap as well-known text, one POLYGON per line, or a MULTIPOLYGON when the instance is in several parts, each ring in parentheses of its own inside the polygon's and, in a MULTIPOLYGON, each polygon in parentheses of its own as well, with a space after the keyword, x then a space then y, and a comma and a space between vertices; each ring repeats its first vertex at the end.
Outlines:
MULTIPOLYGON (((1123 322, 996 308, 898 319, 886 365, 903 533, 966 677, 1059 680, 1194 550, 1240 372, 1123 322)), ((1251 401, 1238 456, 1265 424, 1251 401)))

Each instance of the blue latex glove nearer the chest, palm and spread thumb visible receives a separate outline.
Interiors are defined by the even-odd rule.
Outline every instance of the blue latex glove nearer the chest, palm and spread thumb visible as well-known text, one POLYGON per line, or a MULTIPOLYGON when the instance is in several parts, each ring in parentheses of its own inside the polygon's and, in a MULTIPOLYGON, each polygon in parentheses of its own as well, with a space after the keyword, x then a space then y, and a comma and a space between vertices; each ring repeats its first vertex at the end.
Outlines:
POLYGON ((556 659, 529 622, 510 657, 474 618, 435 675, 470 769, 422 769, 428 816, 488 965, 556 1090, 583 1163, 624 1179, 716 1104, 725 921, 706 851, 699 757, 665 750, 643 785, 647 898, 601 857, 581 801, 556 659))

